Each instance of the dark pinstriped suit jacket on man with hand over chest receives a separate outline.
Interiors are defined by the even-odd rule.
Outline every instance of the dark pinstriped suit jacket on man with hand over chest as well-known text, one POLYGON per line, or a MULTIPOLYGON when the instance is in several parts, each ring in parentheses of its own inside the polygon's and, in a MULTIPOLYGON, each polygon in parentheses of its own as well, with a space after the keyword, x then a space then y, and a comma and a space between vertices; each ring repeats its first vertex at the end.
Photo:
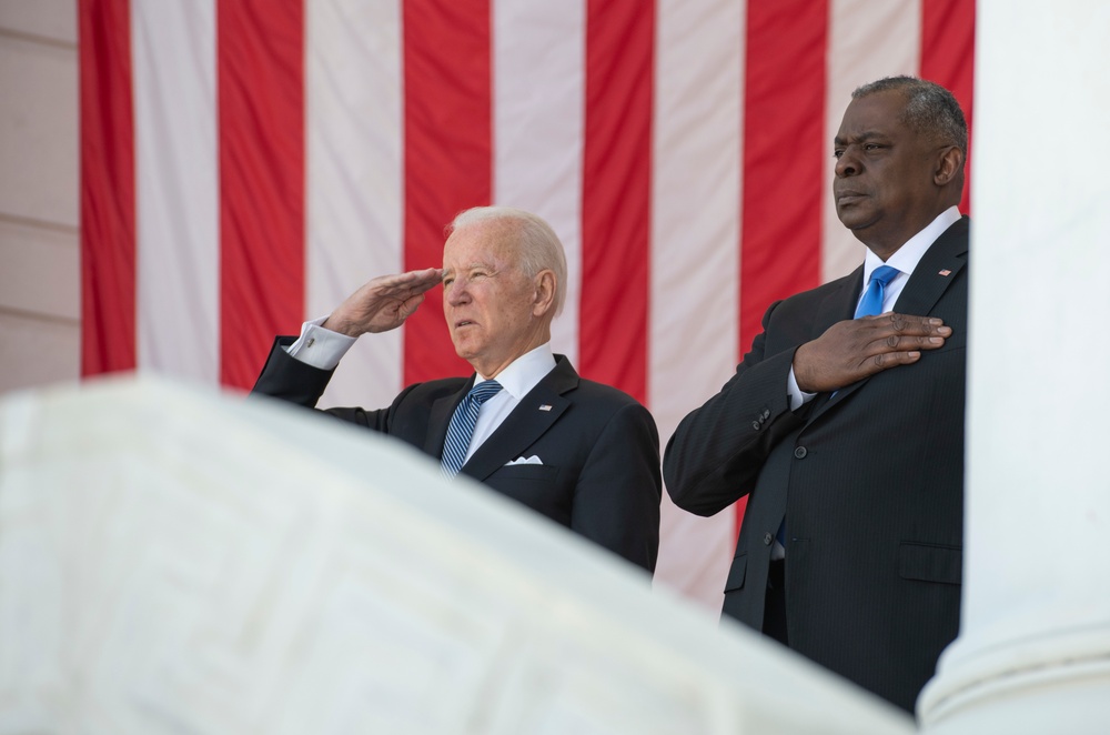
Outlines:
POLYGON ((724 613, 761 630, 785 516, 790 647, 910 711, 959 626, 968 228, 963 218, 941 234, 895 305, 951 326, 941 349, 790 411, 794 353, 852 318, 860 266, 773 304, 736 374, 664 457, 687 511, 748 496, 724 613))

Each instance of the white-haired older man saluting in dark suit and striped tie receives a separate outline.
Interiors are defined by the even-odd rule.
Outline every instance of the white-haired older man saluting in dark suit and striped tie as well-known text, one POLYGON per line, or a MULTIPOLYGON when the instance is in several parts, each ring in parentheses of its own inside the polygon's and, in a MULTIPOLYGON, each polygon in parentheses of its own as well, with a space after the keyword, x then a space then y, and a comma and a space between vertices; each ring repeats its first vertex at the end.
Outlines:
POLYGON ((659 437, 632 396, 583 380, 551 348, 566 298, 566 259, 539 217, 487 207, 448 228, 443 268, 373 279, 300 339, 278 338, 254 385, 315 406, 367 332, 396 329, 443 283, 458 356, 475 374, 410 385, 387 409, 326 413, 396 436, 556 523, 654 571, 659 546, 659 437))

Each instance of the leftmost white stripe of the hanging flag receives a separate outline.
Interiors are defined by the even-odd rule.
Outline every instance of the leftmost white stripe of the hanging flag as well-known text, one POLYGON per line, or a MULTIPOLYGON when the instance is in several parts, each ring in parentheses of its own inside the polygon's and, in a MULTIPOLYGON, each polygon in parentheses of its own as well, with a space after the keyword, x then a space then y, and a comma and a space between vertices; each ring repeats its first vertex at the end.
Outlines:
POLYGON ((131 6, 141 371, 220 376, 213 2, 131 6))

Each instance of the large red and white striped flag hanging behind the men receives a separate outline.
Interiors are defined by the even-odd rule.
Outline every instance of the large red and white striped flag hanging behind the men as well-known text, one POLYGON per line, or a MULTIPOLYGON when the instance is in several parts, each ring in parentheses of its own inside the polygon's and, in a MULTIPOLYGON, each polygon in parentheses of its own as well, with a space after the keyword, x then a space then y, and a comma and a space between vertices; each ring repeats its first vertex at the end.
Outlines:
MULTIPOLYGON (((566 245, 555 351, 666 442, 774 299, 861 261, 851 90, 925 77, 970 120, 973 38, 973 0, 81 0, 82 372, 248 387, 274 334, 508 204, 566 245)), ((324 404, 468 374, 438 298, 324 404)), ((665 501, 657 584, 718 606, 740 513, 665 501)))

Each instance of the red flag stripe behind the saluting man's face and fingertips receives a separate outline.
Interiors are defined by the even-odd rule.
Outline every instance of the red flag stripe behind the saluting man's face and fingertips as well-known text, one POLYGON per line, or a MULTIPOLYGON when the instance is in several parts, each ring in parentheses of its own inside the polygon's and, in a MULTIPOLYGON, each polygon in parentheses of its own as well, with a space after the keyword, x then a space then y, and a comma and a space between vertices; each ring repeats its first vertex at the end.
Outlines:
MULTIPOLYGON (((443 263, 443 228, 493 195, 488 0, 405 0, 405 269, 443 263)), ((467 375, 434 289, 405 322, 405 384, 467 375)))

